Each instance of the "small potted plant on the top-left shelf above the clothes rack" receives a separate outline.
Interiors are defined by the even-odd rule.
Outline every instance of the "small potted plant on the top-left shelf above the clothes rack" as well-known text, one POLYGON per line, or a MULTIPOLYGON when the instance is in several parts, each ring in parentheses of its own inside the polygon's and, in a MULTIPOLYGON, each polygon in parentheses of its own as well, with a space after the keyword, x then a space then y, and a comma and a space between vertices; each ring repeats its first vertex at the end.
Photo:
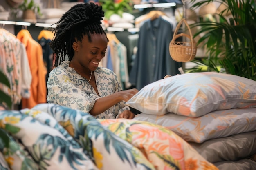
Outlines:
POLYGON ((40 11, 40 6, 36 4, 34 0, 30 0, 30 2, 24 0, 24 2, 18 8, 23 11, 23 19, 36 20, 36 13, 42 15, 40 11))

